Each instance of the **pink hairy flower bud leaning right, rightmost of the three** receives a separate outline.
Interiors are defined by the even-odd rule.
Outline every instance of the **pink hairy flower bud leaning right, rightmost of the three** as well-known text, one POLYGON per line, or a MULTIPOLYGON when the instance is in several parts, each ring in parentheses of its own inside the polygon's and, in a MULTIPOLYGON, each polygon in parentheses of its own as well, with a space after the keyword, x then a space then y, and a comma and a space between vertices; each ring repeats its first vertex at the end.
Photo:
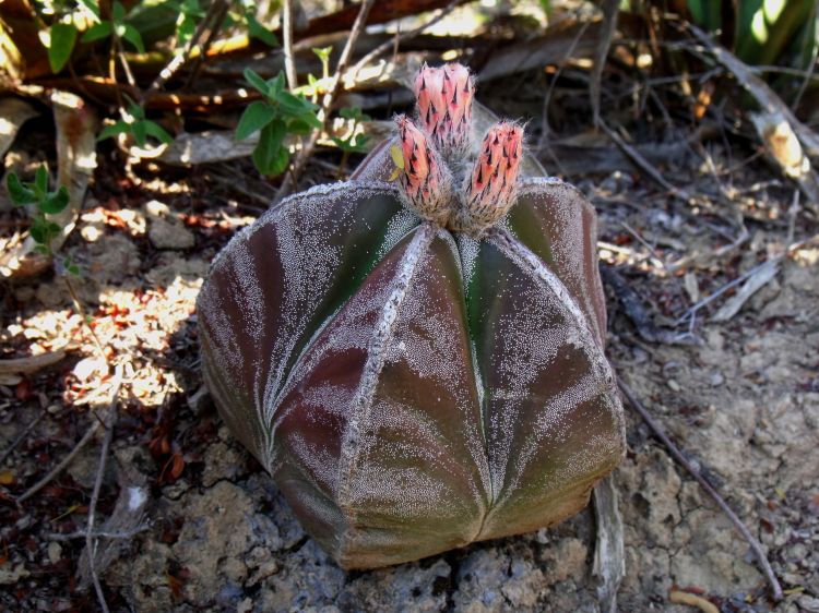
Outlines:
POLYGON ((464 223, 473 230, 487 228, 514 204, 523 156, 523 129, 501 121, 484 136, 472 173, 466 177, 464 223))

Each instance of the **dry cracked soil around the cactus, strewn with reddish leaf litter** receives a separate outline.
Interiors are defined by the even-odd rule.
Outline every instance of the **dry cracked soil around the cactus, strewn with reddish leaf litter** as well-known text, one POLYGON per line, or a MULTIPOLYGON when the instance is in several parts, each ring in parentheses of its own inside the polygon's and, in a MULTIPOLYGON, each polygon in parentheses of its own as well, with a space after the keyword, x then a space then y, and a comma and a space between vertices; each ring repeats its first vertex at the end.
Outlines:
MULTIPOLYGON (((717 168, 731 166, 719 143, 711 155, 717 168)), ((792 189, 761 161, 729 176, 701 164, 664 168, 699 194, 693 204, 636 172, 580 181, 601 216, 604 265, 617 266, 653 323, 672 332, 688 330, 675 320, 701 297, 816 232, 799 214, 788 237, 792 189), (716 254, 738 220, 749 240, 716 254), (697 259, 670 274, 684 256, 697 259)), ((247 160, 224 166, 256 177, 247 160)), ((591 509, 373 572, 344 573, 306 536, 202 393, 197 291, 219 248, 263 209, 211 170, 149 166, 128 176, 109 152, 68 243, 94 332, 124 363, 98 525, 116 513, 120 490, 146 495, 147 529, 117 540, 100 568, 111 610, 598 611, 591 509)), ((333 175, 317 167, 310 179, 333 175)), ((692 610, 668 602, 675 588, 728 612, 819 611, 819 249, 795 250, 736 315, 714 321, 734 293, 698 310, 693 345, 642 339, 610 293, 609 353, 760 539, 787 596, 769 600, 748 544, 627 411, 628 455, 614 473, 625 521, 620 611, 692 610)), ((93 589, 75 578, 84 539, 60 536, 84 529, 104 429, 37 495, 20 506, 14 498, 105 414, 112 380, 59 277, 5 285, 2 326, 3 358, 60 348, 67 358, 0 385, 0 449, 20 440, 0 465, 0 608, 96 610, 93 589)))

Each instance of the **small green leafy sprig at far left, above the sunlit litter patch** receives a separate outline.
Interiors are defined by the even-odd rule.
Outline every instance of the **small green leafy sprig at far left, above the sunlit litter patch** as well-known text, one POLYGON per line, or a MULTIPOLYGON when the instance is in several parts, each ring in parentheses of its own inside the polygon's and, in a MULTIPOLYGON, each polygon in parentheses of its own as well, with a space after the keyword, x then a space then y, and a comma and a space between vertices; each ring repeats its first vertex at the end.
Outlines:
MULTIPOLYGON (((45 164, 37 168, 32 183, 24 183, 16 172, 9 172, 5 178, 5 187, 14 206, 31 207, 32 227, 29 231, 36 243, 35 251, 54 256, 51 243, 62 233, 62 226, 49 219, 48 215, 62 213, 68 206, 68 190, 62 185, 55 191, 48 190, 48 168, 45 164)), ((62 267, 72 275, 80 274, 80 268, 68 256, 62 260, 62 267)))

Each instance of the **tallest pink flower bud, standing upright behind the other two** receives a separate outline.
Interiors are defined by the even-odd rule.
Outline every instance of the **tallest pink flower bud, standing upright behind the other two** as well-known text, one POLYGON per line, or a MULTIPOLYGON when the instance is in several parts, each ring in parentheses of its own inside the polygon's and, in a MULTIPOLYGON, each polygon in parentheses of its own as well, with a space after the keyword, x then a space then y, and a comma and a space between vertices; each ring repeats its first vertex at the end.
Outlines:
POLYGON ((424 64, 415 77, 418 121, 444 156, 462 154, 470 145, 473 79, 466 67, 424 64))

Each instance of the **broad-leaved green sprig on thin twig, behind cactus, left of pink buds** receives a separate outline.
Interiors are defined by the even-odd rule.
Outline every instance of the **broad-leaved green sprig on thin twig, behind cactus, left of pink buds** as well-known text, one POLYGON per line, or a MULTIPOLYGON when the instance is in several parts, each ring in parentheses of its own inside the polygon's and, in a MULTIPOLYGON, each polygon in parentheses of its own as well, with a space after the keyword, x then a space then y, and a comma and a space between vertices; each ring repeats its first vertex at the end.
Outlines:
POLYGON ((253 149, 253 164, 262 175, 281 175, 290 161, 285 137, 287 134, 306 135, 313 129, 320 129, 321 121, 316 116, 319 107, 305 99, 304 95, 288 92, 284 73, 265 81, 246 69, 245 79, 264 99, 251 103, 245 109, 236 127, 236 140, 241 141, 260 132, 259 143, 253 149))

